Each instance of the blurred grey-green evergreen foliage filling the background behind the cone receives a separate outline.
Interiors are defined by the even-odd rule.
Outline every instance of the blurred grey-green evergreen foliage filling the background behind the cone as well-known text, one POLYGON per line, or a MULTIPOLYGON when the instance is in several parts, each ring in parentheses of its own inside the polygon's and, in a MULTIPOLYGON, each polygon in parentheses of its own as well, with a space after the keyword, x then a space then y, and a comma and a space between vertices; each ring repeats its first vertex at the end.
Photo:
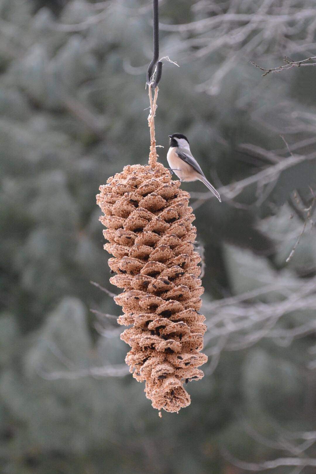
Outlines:
MULTIPOLYGON (((240 474, 244 470, 223 456, 223 448, 261 462, 284 456, 285 450, 258 442, 253 431, 275 440, 283 431, 315 428, 316 375, 308 367, 313 331, 297 340, 276 343, 265 337, 240 350, 223 350, 214 372, 206 366, 204 379, 188 386, 190 407, 178 415, 163 412, 162 419, 131 375, 86 375, 91 367, 125 370, 128 347, 115 319, 99 321, 90 312, 120 314, 112 298, 90 284, 117 292, 108 282, 95 195, 125 164, 148 159, 144 86, 152 54, 150 3, 111 0, 100 9, 86 0, 0 0, 4 474, 240 474), (96 330, 100 325, 104 337, 96 330)), ((161 21, 181 24, 214 15, 193 8, 200 3, 164 1, 161 21)), ((213 3, 225 13, 230 2, 213 3)), ((256 8, 260 3, 253 1, 256 8)), ((164 164, 168 135, 185 133, 206 176, 220 187, 271 164, 244 153, 241 144, 289 157, 280 134, 290 147, 315 135, 315 69, 262 78, 248 63, 262 64, 263 57, 269 67, 277 66, 291 53, 276 30, 270 34, 264 55, 242 50, 243 44, 232 46, 242 52, 217 89, 199 91, 223 65, 228 46, 199 57, 198 48, 186 43, 192 32, 161 31, 161 55, 181 66, 163 65, 155 126, 164 164)), ((302 50, 294 59, 308 55, 302 50)), ((313 152, 313 142, 299 150, 313 152)), ((210 199, 195 211, 205 256, 207 318, 212 301, 271 284, 275 288, 250 300, 249 307, 275 303, 316 274, 310 222, 286 264, 306 216, 304 210, 293 211, 290 196, 298 190, 305 207, 311 203, 316 161, 277 177, 262 199, 251 185, 234 201, 220 205, 210 199)), ((206 191, 199 182, 183 188, 206 191)), ((314 319, 315 306, 289 307, 278 324, 289 329, 314 319)), ((308 469, 303 473, 312 473, 308 469)))

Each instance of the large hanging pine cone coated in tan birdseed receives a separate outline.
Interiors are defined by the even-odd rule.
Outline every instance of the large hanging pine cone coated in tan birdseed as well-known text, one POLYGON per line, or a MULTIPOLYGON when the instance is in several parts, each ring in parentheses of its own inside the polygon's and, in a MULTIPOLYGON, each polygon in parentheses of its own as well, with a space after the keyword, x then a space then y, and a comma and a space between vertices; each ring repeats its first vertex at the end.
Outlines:
POLYGON ((104 248, 114 256, 108 264, 117 273, 110 282, 124 289, 115 298, 124 312, 117 321, 131 326, 121 334, 132 348, 126 364, 136 380, 145 381, 153 408, 178 411, 190 404, 183 383, 201 379, 198 367, 208 360, 200 352, 204 288, 190 194, 160 163, 154 170, 125 166, 99 190, 109 242, 104 248))

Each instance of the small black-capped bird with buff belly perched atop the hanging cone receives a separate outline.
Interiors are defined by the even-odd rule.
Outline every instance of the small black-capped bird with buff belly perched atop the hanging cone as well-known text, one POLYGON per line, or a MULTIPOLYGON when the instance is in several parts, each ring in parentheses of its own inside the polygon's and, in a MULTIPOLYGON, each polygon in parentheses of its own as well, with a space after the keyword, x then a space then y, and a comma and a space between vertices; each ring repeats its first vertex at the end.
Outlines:
POLYGON ((167 160, 170 169, 176 173, 180 181, 202 181, 210 191, 217 197, 219 202, 221 198, 210 182, 204 176, 199 163, 196 161, 190 151, 189 140, 182 133, 173 133, 169 135, 170 148, 167 153, 167 160))

